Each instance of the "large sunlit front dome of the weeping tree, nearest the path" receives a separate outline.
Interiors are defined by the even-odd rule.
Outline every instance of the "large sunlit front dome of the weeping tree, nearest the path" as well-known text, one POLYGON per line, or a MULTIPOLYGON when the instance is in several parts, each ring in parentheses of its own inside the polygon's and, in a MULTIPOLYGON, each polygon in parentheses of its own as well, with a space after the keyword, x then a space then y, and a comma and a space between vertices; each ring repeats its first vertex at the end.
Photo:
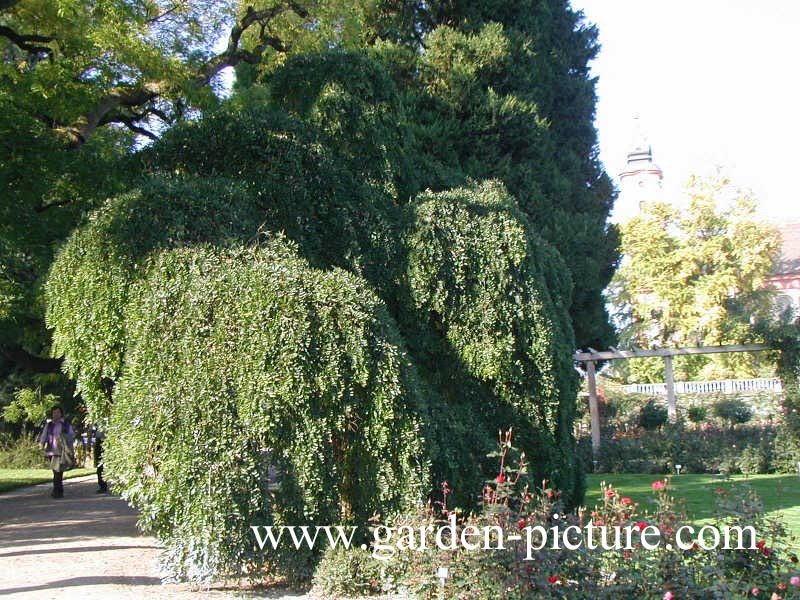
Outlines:
POLYGON ((250 526, 361 523, 424 498, 427 405, 358 278, 275 240, 161 253, 130 294, 106 465, 170 573, 302 580, 313 553, 257 552, 250 526))

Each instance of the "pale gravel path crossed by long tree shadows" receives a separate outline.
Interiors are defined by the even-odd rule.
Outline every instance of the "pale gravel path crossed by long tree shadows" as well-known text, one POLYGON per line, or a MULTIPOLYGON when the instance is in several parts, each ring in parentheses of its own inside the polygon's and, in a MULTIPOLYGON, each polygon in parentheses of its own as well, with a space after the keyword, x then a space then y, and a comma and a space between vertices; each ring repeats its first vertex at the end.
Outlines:
POLYGON ((95 494, 94 476, 64 482, 64 498, 42 484, 0 494, 0 597, 19 600, 220 600, 307 598, 162 584, 158 545, 136 529, 136 512, 95 494))

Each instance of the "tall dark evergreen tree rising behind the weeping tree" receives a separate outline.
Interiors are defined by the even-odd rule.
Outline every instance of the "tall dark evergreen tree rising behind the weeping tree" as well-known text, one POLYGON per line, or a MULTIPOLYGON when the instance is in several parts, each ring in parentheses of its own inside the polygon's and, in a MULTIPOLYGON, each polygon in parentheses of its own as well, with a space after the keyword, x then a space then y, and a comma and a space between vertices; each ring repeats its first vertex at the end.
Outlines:
POLYGON ((427 137, 450 120, 453 144, 445 156, 432 146, 432 159, 456 159, 464 175, 508 186, 577 284, 578 346, 604 347, 613 334, 601 293, 618 236, 606 224, 614 194, 593 124, 596 29, 564 0, 442 2, 433 22, 420 54, 417 103, 427 110, 415 114, 427 137))

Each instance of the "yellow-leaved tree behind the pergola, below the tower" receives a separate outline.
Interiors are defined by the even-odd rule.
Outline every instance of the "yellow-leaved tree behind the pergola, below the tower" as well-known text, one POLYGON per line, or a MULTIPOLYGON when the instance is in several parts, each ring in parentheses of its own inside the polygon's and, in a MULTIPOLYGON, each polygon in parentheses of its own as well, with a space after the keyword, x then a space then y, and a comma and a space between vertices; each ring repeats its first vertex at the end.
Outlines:
MULTIPOLYGON (((622 225, 622 264, 609 286, 620 341, 642 348, 755 341, 772 317, 765 280, 780 236, 755 216, 755 201, 727 178, 691 177, 688 205, 649 204, 622 225)), ((627 361, 631 380, 663 381, 660 360, 627 361)), ((754 355, 678 357, 686 379, 755 376, 771 364, 754 355)))

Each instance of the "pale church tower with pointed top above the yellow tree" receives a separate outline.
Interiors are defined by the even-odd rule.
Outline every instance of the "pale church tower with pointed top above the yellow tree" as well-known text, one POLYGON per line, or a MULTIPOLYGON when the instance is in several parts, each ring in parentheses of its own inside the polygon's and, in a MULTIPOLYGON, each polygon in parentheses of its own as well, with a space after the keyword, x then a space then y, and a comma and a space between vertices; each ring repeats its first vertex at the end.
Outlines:
POLYGON ((620 193, 614 203, 611 220, 624 223, 637 216, 648 202, 662 200, 661 180, 664 174, 653 162, 653 150, 642 132, 639 118, 634 119, 634 135, 627 161, 619 174, 620 193))

